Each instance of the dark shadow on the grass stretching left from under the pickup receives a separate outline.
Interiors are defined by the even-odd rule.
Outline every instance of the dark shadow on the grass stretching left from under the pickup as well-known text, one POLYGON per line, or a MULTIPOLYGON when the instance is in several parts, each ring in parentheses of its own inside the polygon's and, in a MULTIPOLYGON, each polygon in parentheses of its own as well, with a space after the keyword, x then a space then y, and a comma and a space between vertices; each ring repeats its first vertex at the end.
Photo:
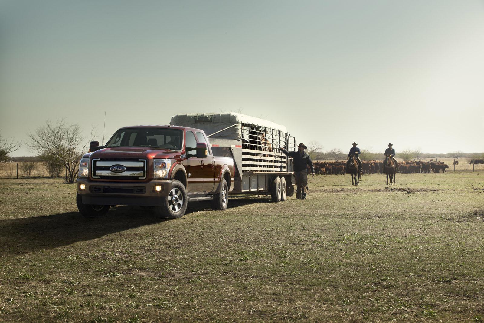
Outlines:
POLYGON ((67 246, 170 219, 132 206, 112 208, 105 216, 86 219, 78 212, 0 221, 0 257, 67 246))

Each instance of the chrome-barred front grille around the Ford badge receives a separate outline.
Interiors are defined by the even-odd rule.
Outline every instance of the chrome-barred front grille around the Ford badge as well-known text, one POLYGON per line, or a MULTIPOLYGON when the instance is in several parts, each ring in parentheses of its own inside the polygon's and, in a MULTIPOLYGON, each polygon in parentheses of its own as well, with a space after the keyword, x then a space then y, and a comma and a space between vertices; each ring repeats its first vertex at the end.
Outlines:
POLYGON ((141 180, 146 178, 146 159, 134 158, 94 158, 92 178, 141 180), (113 171, 112 166, 120 166, 121 172, 113 171))

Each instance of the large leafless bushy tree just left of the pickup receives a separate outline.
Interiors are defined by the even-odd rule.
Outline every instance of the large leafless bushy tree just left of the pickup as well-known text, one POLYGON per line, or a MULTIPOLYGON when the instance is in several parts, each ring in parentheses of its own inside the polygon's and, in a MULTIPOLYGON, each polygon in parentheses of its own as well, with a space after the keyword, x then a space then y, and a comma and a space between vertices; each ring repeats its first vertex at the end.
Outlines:
MULTIPOLYGON (((78 172, 79 160, 87 145, 81 127, 67 124, 63 119, 53 124, 47 121, 44 126, 29 132, 28 146, 39 155, 53 155, 65 168, 66 183, 74 183, 78 172)), ((92 129, 91 129, 92 137, 92 129)))

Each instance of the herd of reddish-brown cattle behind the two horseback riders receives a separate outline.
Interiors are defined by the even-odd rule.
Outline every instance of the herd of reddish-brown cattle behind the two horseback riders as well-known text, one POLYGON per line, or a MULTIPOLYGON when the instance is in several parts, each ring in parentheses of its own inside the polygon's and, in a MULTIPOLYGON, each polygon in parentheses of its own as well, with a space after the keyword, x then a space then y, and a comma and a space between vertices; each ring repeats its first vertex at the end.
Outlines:
MULTIPOLYGON (((407 161, 401 162, 398 172, 403 174, 428 174, 446 172, 449 168, 442 162, 407 161)), ((344 175, 346 162, 314 162, 314 172, 317 175, 344 175)), ((363 161, 363 174, 383 174, 383 161, 363 161)))

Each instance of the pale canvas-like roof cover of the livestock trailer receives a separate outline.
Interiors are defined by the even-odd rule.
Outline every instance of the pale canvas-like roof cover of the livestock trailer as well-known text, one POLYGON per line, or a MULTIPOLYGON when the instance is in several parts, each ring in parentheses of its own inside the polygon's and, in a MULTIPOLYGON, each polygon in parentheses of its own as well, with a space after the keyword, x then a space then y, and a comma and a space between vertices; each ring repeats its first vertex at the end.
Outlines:
POLYGON ((195 125, 199 123, 218 123, 219 125, 223 124, 226 127, 237 123, 250 123, 261 127, 287 132, 286 127, 283 125, 235 112, 179 113, 172 116, 170 121, 171 125, 194 124, 194 128, 197 128, 195 125))

